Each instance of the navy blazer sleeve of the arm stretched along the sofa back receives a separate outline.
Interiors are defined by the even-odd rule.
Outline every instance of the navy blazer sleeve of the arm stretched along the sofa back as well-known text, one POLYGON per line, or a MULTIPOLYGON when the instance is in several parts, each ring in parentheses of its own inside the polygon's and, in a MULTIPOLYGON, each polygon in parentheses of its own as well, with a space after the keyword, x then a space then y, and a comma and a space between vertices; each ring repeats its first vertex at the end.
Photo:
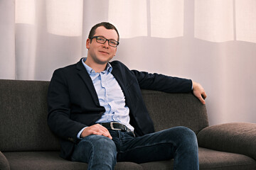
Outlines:
POLYGON ((188 93, 192 91, 192 81, 163 74, 150 74, 132 70, 141 89, 164 91, 167 93, 188 93))

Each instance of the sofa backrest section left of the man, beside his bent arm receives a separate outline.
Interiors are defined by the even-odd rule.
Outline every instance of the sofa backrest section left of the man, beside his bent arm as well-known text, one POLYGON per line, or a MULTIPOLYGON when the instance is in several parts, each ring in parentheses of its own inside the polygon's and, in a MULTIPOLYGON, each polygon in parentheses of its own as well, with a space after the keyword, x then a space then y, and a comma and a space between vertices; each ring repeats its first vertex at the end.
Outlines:
POLYGON ((0 151, 60 149, 47 125, 48 84, 0 80, 0 151))

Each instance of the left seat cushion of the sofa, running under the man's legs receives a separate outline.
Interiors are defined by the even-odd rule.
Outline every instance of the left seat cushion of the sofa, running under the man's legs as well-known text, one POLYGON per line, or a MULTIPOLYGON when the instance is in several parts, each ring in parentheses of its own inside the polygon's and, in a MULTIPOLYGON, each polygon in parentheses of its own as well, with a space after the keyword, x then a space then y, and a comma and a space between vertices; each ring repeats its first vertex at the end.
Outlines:
MULTIPOLYGON (((6 152, 11 169, 14 170, 84 170, 87 164, 82 162, 70 162, 59 157, 59 152, 6 152)), ((132 162, 117 162, 115 170, 142 170, 142 166, 132 162)))

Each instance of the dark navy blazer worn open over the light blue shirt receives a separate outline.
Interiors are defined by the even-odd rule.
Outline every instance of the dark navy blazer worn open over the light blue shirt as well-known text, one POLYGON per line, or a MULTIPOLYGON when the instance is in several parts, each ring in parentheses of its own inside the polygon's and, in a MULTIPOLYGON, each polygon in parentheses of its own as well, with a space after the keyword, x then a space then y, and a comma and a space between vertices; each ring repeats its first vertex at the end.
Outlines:
MULTIPOLYGON (((110 64, 129 107, 130 124, 138 136, 154 132, 141 89, 168 93, 191 91, 191 80, 129 70, 118 61, 110 64)), ((94 125, 103 113, 105 108, 100 106, 95 87, 81 60, 55 70, 48 89, 48 125, 60 137, 61 157, 70 159, 74 145, 80 142, 78 132, 85 126, 94 125)))

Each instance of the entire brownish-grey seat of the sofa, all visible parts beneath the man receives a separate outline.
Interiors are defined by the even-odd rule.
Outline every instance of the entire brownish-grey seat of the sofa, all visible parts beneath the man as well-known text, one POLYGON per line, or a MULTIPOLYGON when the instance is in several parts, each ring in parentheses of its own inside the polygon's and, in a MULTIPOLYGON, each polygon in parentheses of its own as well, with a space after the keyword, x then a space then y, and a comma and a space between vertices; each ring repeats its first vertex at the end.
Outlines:
MULTIPOLYGON (((70 162, 59 157, 59 152, 4 152, 11 169, 86 169, 87 164, 70 162)), ((256 169, 254 159, 242 154, 218 152, 199 147, 200 169, 207 170, 244 170, 256 169)), ((117 162, 115 169, 173 169, 174 160, 135 164, 117 162)))

